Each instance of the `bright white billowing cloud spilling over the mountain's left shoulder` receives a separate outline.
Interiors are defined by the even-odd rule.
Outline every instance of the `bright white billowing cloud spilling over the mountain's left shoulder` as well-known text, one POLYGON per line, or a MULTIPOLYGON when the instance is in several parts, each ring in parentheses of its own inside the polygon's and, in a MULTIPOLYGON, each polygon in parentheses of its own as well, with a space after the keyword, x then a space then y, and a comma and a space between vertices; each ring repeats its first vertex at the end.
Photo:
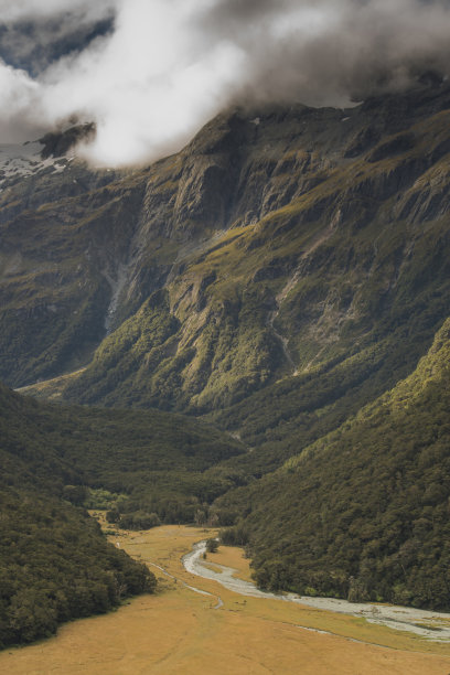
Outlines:
POLYGON ((41 77, 45 117, 94 117, 98 136, 86 154, 101 163, 143 161, 188 140, 226 105, 244 67, 232 42, 199 49, 189 24, 207 4, 128 0, 111 36, 41 77))

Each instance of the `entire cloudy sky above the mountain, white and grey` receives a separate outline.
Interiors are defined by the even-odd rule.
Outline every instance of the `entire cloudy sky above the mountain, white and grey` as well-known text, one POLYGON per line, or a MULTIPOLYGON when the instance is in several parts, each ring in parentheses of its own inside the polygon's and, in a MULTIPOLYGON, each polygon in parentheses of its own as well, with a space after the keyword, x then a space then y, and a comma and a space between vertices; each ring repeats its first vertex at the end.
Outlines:
POLYGON ((231 105, 344 107, 450 69, 450 0, 0 0, 0 142, 77 116, 96 165, 178 150, 231 105))

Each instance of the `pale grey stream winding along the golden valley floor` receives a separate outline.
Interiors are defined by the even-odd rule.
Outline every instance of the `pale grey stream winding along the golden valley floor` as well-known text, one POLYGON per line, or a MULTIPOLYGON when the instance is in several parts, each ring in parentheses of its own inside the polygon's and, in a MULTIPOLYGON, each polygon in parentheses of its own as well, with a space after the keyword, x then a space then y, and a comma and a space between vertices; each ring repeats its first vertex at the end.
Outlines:
MULTIPOLYGON (((192 575, 217 581, 224 588, 251 598, 266 598, 281 600, 283 602, 296 602, 303 607, 351 614, 365 619, 369 623, 385 625, 397 631, 407 631, 435 642, 447 642, 450 640, 450 614, 420 610, 410 607, 397 607, 394 604, 357 603, 335 598, 311 598, 308 596, 296 596, 294 593, 277 594, 259 590, 250 581, 237 579, 233 575, 237 571, 232 567, 217 565, 222 571, 214 571, 202 564, 203 554, 206 551, 206 542, 195 544, 192 551, 183 556, 184 569, 192 575)), ((213 559, 208 558, 210 562, 213 559)))

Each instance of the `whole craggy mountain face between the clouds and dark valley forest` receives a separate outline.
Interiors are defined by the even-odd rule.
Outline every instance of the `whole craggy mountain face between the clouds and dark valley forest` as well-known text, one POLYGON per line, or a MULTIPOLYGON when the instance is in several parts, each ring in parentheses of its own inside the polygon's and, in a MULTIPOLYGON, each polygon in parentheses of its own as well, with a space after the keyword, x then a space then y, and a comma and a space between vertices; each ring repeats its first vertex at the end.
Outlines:
POLYGON ((449 121, 439 84, 231 110, 147 169, 9 179, 0 377, 88 364, 64 398, 193 413, 280 379, 381 394, 450 314, 449 121))

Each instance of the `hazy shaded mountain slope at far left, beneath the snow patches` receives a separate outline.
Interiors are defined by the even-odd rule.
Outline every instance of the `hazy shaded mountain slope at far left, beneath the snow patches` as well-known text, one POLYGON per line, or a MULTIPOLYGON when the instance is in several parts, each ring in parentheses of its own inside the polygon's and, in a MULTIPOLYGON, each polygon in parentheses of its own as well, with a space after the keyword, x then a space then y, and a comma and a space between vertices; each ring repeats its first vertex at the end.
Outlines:
POLYGON ((61 162, 8 179, 0 194, 0 377, 11 385, 89 358, 132 233, 139 185, 61 162))

